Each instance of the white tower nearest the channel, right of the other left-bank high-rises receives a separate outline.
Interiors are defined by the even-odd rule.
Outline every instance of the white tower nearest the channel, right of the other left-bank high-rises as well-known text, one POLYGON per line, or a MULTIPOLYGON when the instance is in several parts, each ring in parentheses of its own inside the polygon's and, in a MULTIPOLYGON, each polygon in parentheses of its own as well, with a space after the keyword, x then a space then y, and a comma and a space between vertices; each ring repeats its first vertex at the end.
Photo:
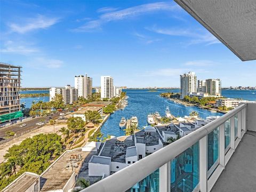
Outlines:
POLYGON ((114 97, 114 80, 111 76, 101 76, 101 98, 113 98, 114 97))

